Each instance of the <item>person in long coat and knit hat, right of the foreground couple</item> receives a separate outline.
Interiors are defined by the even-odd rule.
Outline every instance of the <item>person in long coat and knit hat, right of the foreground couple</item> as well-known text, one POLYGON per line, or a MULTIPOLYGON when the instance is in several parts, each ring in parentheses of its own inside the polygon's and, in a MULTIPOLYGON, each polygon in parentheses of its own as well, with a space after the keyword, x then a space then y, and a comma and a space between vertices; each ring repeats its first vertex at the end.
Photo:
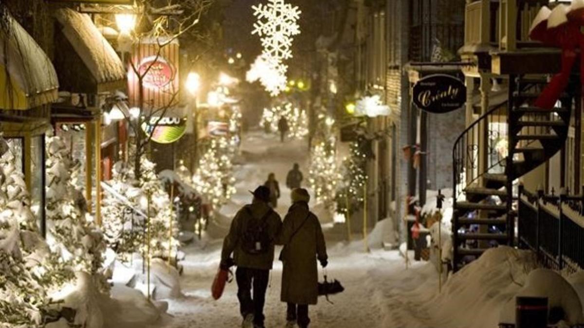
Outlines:
POLYGON ((308 305, 318 298, 317 260, 326 267, 328 256, 321 224, 308 208, 310 195, 306 189, 292 191, 292 206, 284 218, 278 243, 284 245, 280 299, 288 305, 288 326, 298 323, 308 327, 308 305))

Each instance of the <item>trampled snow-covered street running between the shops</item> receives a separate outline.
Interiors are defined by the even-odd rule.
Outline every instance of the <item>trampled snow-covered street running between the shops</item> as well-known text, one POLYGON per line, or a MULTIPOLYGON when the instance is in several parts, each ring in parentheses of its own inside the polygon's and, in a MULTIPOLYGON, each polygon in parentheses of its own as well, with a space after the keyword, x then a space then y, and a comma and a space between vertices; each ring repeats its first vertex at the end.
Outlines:
MULTIPOLYGON (((306 149, 304 141, 281 144, 274 136, 265 137, 259 132, 246 135, 242 144, 242 158, 245 159, 242 162, 245 164, 239 166, 236 173, 237 194, 232 204, 221 211, 225 222, 220 224, 225 227, 228 225, 228 219, 239 206, 251 200, 248 190, 263 183, 269 172, 276 173, 276 179, 280 181, 282 197, 278 211, 284 214, 290 202, 289 190, 282 180, 294 162, 300 163, 304 172, 307 170, 306 149)), ((185 297, 170 301, 168 312, 172 317, 167 317, 161 327, 237 327, 241 324, 235 282, 227 286, 219 301, 214 301, 210 293, 211 282, 220 260, 221 230, 217 226, 210 228, 213 236, 206 236, 203 241, 184 249, 187 256, 183 261, 185 271, 181 287, 185 297)), ((325 235, 330 263, 328 276, 341 281, 345 292, 331 296, 334 304, 320 298, 317 306, 311 306, 311 327, 390 327, 390 323, 391 327, 411 327, 409 323, 415 320, 412 317, 390 318, 387 317, 388 313, 410 312, 424 317, 415 308, 410 308, 411 304, 407 301, 388 304, 388 296, 391 299, 388 293, 398 295, 398 290, 414 288, 419 281, 436 280, 431 267, 430 270, 416 270, 415 275, 398 274, 405 270, 405 263, 396 251, 377 250, 365 253, 362 242, 354 241, 347 245, 335 238, 334 234, 328 233, 326 226, 325 235), (394 310, 400 309, 390 312, 389 306, 394 310)), ((322 270, 320 278, 322 280, 322 270)), ((266 327, 283 327, 286 323, 286 305, 280 302, 281 263, 278 261, 274 263, 270 281, 266 296, 266 327)))

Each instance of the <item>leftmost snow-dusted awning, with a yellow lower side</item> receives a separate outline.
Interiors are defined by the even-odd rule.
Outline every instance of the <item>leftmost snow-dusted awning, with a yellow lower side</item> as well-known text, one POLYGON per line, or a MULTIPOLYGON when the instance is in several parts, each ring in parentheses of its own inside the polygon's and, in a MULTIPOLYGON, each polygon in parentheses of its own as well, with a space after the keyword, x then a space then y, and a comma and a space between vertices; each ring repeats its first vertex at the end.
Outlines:
POLYGON ((12 16, 0 27, 0 109, 27 110, 57 100, 57 73, 12 16))

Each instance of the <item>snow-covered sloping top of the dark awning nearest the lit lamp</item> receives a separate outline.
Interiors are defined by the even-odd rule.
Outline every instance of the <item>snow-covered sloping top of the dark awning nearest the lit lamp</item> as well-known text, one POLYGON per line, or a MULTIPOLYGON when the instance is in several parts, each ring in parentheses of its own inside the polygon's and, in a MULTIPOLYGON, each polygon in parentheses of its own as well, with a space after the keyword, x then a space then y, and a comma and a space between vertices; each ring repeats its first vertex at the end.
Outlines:
POLYGON ((89 15, 63 8, 55 12, 55 18, 62 25, 62 33, 98 83, 126 79, 126 70, 116 51, 89 15))

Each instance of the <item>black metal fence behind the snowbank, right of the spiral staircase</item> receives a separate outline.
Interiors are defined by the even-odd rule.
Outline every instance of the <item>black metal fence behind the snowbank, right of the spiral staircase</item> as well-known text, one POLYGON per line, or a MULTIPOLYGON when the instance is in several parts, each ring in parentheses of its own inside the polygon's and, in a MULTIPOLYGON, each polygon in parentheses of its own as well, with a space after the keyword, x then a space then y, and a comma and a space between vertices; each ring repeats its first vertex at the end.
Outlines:
POLYGON ((519 247, 554 270, 584 269, 584 195, 530 193, 519 187, 519 247))

